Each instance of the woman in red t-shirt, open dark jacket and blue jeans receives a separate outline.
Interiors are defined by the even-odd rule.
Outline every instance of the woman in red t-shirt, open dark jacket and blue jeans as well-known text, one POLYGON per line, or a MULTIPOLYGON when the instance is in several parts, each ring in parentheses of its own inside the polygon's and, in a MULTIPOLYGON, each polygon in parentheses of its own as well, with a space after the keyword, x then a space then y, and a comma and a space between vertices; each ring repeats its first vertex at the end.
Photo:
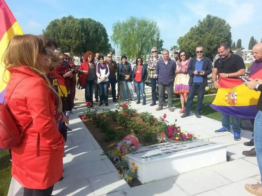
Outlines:
POLYGON ((135 87, 137 90, 137 104, 140 103, 140 92, 142 94, 143 103, 146 104, 145 81, 148 77, 147 67, 143 65, 143 59, 138 57, 136 65, 133 68, 132 77, 134 78, 135 87))

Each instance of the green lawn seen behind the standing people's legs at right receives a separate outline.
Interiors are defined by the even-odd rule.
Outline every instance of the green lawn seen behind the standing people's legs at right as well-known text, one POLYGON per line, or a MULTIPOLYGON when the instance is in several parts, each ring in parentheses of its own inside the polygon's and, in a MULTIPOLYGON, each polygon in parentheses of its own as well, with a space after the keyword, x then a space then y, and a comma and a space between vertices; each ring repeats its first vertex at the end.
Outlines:
MULTIPOLYGON (((219 120, 221 121, 221 113, 215 111, 214 109, 210 108, 208 105, 204 106, 207 103, 212 103, 215 99, 215 95, 210 96, 204 96, 203 103, 202 103, 202 110, 201 115, 209 117, 211 119, 219 120)), ((195 97, 192 103, 191 112, 195 112, 196 105, 197 105, 198 98, 195 97)), ((173 101, 174 102, 174 101, 173 101)), ((180 99, 176 100, 175 103, 173 103, 174 107, 181 108, 181 102, 180 99)), ((181 114, 182 115, 182 114, 181 114)))

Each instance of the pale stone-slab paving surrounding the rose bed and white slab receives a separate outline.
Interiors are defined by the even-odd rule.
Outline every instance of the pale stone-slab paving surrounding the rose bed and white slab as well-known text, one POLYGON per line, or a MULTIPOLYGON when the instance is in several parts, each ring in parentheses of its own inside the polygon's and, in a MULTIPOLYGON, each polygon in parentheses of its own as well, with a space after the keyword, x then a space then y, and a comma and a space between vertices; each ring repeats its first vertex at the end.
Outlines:
MULTIPOLYGON (((232 134, 215 134, 214 130, 221 127, 221 122, 202 116, 198 119, 193 114, 187 118, 180 118, 178 111, 170 113, 167 108, 155 111, 155 106, 137 105, 132 102, 132 108, 138 112, 148 111, 156 117, 167 114, 171 123, 178 119, 178 124, 188 132, 200 135, 200 138, 210 141, 227 143, 227 155, 234 159, 230 162, 204 167, 175 177, 153 181, 137 187, 130 188, 120 179, 116 168, 107 158, 100 156, 103 152, 86 126, 78 117, 86 110, 85 103, 76 102, 77 114, 70 115, 69 127, 73 129, 68 133, 65 146, 64 180, 55 184, 53 194, 57 196, 251 196, 244 189, 245 183, 256 183, 260 179, 256 157, 245 157, 243 150, 251 147, 243 142, 251 139, 250 131, 242 130, 242 140, 233 140, 232 134)), ((110 109, 117 104, 109 101, 110 109)), ((8 196, 20 196, 23 190, 12 179, 8 196)))

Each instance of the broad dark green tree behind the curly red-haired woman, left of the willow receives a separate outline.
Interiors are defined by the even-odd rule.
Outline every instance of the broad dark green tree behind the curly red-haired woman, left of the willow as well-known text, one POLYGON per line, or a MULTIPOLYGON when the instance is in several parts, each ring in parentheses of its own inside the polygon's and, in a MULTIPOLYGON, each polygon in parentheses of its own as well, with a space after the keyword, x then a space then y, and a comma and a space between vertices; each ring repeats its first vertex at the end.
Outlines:
POLYGON ((55 19, 42 32, 56 40, 63 52, 80 55, 88 50, 100 53, 114 51, 103 24, 90 18, 68 16, 55 19))

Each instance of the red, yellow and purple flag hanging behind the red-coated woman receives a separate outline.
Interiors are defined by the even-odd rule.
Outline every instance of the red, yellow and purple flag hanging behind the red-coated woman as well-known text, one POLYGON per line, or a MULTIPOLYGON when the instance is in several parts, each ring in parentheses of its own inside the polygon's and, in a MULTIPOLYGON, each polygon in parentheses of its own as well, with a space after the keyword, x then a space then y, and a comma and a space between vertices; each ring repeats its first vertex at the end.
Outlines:
POLYGON ((14 18, 13 13, 8 8, 4 0, 0 0, 0 102, 3 103, 5 88, 11 77, 10 72, 4 74, 4 63, 2 61, 4 51, 13 35, 23 34, 22 29, 14 18), (4 79, 3 79, 4 78, 4 79))

